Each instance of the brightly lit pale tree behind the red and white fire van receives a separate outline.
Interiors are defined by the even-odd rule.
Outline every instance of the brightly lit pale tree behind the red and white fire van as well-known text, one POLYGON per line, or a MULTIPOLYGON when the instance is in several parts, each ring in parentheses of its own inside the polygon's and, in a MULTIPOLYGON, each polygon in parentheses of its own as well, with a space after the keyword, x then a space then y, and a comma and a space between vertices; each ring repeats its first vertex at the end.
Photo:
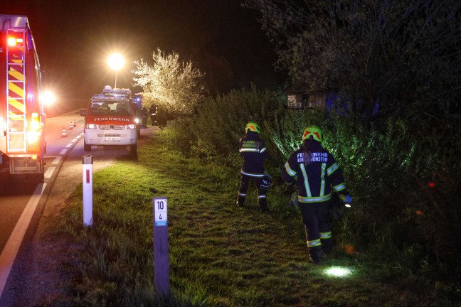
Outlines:
POLYGON ((165 54, 160 49, 152 53, 153 65, 143 59, 134 61, 135 84, 144 90, 143 104, 157 104, 168 112, 191 114, 203 97, 199 80, 203 73, 192 67, 191 61, 181 62, 178 53, 165 54))

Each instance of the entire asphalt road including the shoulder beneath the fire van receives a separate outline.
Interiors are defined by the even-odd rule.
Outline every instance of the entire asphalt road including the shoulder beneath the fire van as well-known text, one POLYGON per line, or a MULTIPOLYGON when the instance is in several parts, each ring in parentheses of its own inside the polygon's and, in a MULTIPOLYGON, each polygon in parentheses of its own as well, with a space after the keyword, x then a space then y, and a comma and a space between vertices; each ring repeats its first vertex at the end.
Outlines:
MULTIPOLYGON (((155 130, 143 129, 140 141, 155 130)), ((0 173, 0 306, 18 306, 14 302, 21 301, 18 298, 24 293, 21 285, 26 275, 31 274, 25 271, 27 264, 23 262, 33 259, 31 245, 36 230, 53 219, 53 204, 62 202, 81 183, 82 157, 91 154, 93 171, 97 171, 116 158, 131 155, 129 146, 92 146, 90 152, 85 152, 82 138, 83 117, 78 114, 47 119, 44 183, 31 176, 11 178, 8 173, 0 173), (77 126, 69 129, 73 120, 77 126), (31 204, 34 199, 36 204, 31 204), (25 224, 23 220, 30 222, 21 226, 25 224), (18 235, 21 231, 23 235, 18 235)))

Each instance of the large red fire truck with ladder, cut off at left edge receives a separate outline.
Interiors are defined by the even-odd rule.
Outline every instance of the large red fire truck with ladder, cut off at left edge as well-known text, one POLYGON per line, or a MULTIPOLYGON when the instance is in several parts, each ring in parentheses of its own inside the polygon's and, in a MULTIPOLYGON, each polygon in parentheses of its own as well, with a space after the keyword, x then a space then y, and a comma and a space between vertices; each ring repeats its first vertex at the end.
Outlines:
POLYGON ((43 179, 45 112, 27 16, 0 15, 0 168, 43 179))

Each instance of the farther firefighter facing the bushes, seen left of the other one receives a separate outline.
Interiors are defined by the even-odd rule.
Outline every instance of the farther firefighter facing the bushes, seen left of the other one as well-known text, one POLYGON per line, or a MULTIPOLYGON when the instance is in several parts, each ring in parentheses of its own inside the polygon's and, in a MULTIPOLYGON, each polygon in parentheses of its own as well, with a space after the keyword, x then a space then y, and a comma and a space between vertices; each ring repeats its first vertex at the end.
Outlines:
POLYGON ((245 197, 250 179, 255 181, 258 190, 258 205, 261 212, 269 212, 267 207, 267 190, 269 190, 272 178, 264 170, 264 160, 269 156, 263 139, 259 133, 261 129, 255 122, 249 122, 245 126, 245 136, 240 139, 238 149, 243 158, 243 166, 240 171, 240 187, 238 188, 237 205, 245 205, 245 197))

